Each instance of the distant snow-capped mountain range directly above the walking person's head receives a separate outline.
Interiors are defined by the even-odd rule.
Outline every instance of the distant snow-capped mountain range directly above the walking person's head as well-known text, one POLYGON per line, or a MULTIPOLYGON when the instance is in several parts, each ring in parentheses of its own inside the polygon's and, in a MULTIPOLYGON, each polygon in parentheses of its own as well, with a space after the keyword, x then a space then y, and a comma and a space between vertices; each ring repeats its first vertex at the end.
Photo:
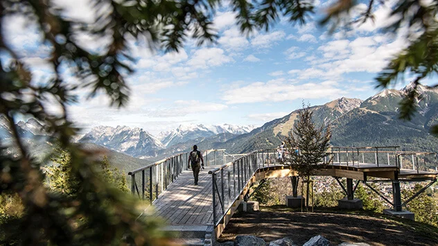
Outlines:
POLYGON ((254 129, 254 125, 196 125, 196 124, 186 124, 179 125, 179 127, 170 132, 161 132, 161 143, 164 146, 173 146, 177 143, 184 143, 189 140, 198 139, 199 137, 211 137, 220 133, 231 133, 231 134, 244 134, 251 132, 254 129))

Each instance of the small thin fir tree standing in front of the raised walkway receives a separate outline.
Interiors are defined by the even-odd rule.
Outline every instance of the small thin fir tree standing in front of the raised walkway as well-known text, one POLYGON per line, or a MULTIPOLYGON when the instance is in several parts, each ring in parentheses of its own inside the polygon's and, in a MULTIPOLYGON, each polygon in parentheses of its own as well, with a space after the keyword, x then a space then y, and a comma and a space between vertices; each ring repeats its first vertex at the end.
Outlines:
POLYGON ((286 138, 286 155, 283 164, 297 170, 299 177, 306 178, 306 209, 309 207, 310 176, 324 168, 329 162, 330 126, 317 127, 312 120, 313 112, 310 106, 303 105, 298 113, 298 120, 289 136, 286 138))

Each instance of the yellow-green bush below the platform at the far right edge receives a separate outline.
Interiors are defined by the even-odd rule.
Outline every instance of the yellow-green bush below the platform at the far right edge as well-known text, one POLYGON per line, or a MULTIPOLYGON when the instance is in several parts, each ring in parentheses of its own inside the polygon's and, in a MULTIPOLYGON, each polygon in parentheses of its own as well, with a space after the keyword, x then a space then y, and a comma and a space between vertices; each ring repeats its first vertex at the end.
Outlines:
MULTIPOLYGON (((415 184, 412 190, 403 190, 401 193, 402 200, 412 197, 421 188, 423 187, 420 184, 415 184)), ((415 220, 438 227, 438 202, 433 199, 432 191, 421 193, 415 197, 408 202, 406 209, 415 213, 415 220)))

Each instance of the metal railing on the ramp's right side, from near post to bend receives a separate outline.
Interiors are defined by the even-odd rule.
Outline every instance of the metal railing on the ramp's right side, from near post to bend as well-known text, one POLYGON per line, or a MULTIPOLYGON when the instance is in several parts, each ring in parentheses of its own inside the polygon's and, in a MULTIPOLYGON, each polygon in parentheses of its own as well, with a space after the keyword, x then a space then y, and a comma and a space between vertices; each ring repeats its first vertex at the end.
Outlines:
POLYGON ((256 150, 249 154, 230 156, 236 159, 209 171, 212 179, 214 225, 222 220, 257 169, 277 164, 276 153, 272 150, 256 150))

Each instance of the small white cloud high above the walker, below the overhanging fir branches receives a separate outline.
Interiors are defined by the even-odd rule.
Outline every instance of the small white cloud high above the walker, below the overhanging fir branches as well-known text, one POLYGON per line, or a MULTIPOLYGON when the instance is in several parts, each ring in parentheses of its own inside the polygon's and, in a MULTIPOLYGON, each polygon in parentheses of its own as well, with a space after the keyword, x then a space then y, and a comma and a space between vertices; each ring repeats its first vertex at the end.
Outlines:
POLYGON ((187 64, 197 69, 207 69, 229 62, 234 62, 234 60, 225 55, 224 50, 218 48, 203 48, 195 51, 187 64))

